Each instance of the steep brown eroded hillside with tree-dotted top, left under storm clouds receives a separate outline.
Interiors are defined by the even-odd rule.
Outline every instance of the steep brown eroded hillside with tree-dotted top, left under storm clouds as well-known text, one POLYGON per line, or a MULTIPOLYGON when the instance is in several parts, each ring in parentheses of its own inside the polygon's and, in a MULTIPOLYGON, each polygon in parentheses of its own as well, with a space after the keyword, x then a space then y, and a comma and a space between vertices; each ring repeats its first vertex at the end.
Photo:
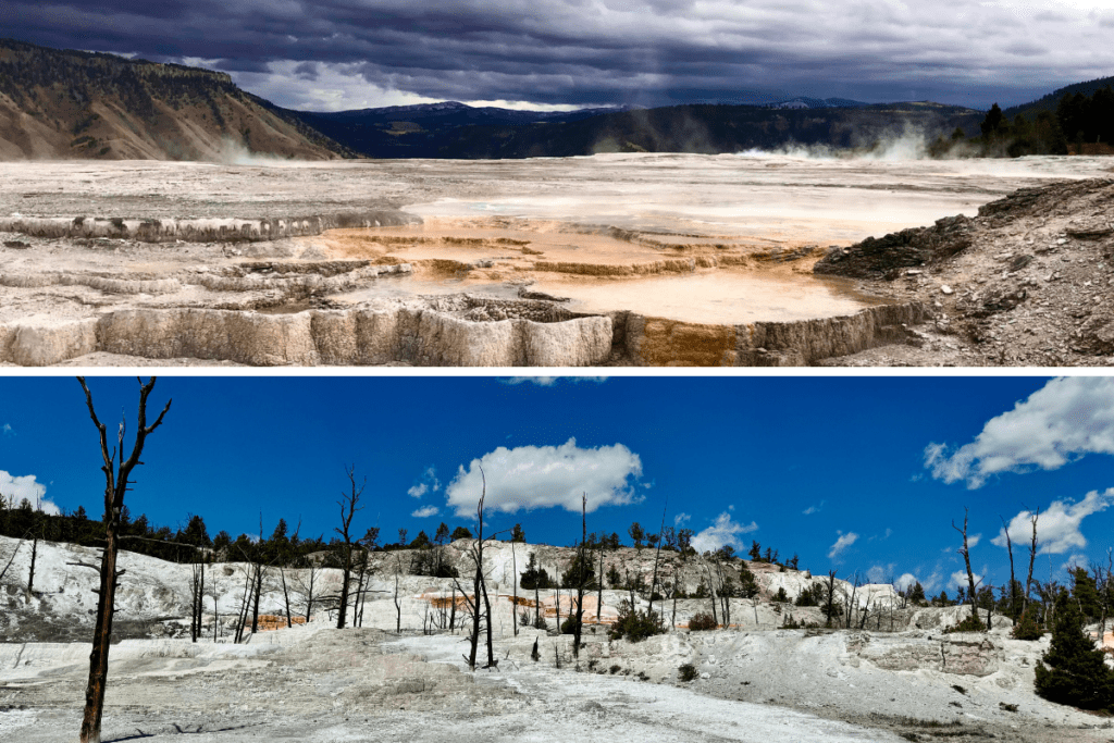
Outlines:
POLYGON ((224 72, 0 39, 0 159, 348 154, 224 72))

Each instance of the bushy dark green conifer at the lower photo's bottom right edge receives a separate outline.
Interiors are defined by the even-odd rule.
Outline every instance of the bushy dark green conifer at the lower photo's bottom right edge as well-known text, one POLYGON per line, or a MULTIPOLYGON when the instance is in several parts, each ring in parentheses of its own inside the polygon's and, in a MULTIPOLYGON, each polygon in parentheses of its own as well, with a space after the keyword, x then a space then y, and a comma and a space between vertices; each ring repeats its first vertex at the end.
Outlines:
POLYGON ((1035 691, 1057 704, 1114 711, 1114 671, 1083 630, 1078 604, 1066 590, 1056 598, 1052 645, 1037 662, 1035 691))

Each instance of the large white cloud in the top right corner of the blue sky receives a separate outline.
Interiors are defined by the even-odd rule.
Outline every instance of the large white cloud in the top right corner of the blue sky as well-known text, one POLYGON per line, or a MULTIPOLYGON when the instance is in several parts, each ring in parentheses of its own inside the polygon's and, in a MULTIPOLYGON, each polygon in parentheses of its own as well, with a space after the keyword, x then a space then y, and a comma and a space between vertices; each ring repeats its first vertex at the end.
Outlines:
POLYGON ((1114 453, 1114 378, 1054 379, 987 421, 958 449, 925 448, 925 467, 945 482, 980 488, 1003 472, 1055 470, 1088 453, 1114 453))

